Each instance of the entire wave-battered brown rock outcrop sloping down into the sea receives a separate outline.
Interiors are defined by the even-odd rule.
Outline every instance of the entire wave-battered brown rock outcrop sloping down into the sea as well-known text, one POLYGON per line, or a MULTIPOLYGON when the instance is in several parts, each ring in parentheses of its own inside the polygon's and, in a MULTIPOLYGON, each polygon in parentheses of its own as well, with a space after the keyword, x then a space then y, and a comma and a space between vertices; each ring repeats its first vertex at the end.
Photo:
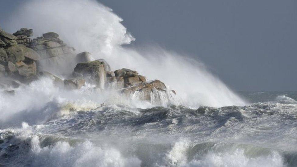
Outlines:
POLYGON ((167 101, 176 94, 163 82, 148 81, 137 71, 127 68, 111 71, 105 60, 94 60, 87 51, 76 54, 57 33, 44 33, 35 39, 32 36, 32 29, 21 28, 10 34, 0 28, 0 88, 12 96, 20 85, 42 77, 50 78, 59 89, 81 89, 90 83, 99 94, 115 90, 127 97, 137 94, 138 99, 149 102, 156 92, 166 93, 167 101), (58 77, 65 72, 70 73, 67 78, 58 77))

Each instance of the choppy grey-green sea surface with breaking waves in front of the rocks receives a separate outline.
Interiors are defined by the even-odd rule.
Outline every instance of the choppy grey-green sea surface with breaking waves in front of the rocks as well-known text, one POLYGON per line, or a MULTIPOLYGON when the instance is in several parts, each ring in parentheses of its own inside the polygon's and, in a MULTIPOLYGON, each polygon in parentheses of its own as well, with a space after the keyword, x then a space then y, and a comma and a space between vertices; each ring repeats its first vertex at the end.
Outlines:
POLYGON ((240 94, 251 103, 198 109, 71 106, 72 112, 43 123, 1 128, 0 164, 296 166, 297 93, 240 94))

